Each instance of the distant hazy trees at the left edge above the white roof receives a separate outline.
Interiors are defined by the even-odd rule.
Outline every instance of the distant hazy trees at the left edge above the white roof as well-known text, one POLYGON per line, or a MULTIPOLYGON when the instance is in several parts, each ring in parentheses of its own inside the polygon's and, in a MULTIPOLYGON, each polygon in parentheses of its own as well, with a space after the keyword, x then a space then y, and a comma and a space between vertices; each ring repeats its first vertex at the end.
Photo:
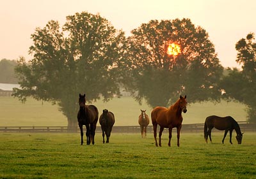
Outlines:
POLYGON ((7 59, 2 59, 0 61, 0 83, 18 83, 18 79, 14 74, 15 66, 17 66, 17 61, 10 61, 7 59))

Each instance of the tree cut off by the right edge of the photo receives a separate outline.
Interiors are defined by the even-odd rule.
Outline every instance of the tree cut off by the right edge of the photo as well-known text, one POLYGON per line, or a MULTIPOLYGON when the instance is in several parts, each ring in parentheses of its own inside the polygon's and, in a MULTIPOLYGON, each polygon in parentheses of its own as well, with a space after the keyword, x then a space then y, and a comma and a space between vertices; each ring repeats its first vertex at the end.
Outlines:
POLYGON ((225 98, 236 100, 248 106, 248 121, 256 122, 256 41, 255 35, 249 33, 246 38, 236 43, 236 62, 242 64, 242 70, 229 69, 227 76, 221 80, 225 98))

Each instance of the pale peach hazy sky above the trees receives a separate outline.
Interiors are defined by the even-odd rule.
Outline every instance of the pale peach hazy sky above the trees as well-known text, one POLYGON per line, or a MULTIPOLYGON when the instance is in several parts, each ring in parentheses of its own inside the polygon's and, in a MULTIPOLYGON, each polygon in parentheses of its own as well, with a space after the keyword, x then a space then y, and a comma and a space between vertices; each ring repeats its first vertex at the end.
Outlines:
POLYGON ((129 36, 132 29, 149 20, 190 18, 208 33, 225 67, 237 67, 236 42, 256 32, 255 0, 8 0, 0 2, 0 60, 31 59, 30 35, 49 20, 61 26, 67 15, 99 13, 129 36))

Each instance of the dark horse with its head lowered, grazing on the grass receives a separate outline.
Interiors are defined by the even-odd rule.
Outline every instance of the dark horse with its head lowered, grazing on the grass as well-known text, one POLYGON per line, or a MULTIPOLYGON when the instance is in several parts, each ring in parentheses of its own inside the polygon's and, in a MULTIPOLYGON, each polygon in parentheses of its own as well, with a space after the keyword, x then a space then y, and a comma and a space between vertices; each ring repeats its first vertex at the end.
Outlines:
POLYGON ((224 138, 222 140, 222 143, 224 143, 225 137, 227 136, 227 132, 229 131, 229 141, 232 144, 232 132, 235 129, 236 131, 236 140, 238 144, 242 143, 243 133, 241 133, 241 129, 239 125, 237 124, 236 120, 234 118, 227 116, 227 117, 218 117, 216 115, 211 115, 205 119, 204 123, 204 138, 207 143, 208 136, 210 138, 210 141, 212 142, 211 138, 211 131, 212 128, 216 128, 220 131, 225 130, 224 138))

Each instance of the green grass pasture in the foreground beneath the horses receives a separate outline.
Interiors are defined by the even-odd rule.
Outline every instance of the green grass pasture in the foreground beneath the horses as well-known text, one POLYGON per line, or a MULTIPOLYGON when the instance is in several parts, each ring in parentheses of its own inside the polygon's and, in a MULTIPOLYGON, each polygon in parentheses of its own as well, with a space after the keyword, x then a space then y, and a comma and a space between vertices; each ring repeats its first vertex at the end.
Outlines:
POLYGON ((79 133, 0 133, 0 178, 256 178, 256 133, 242 145, 221 143, 223 132, 206 144, 201 133, 181 133, 163 147, 152 133, 111 134, 108 144, 80 145, 79 133))

